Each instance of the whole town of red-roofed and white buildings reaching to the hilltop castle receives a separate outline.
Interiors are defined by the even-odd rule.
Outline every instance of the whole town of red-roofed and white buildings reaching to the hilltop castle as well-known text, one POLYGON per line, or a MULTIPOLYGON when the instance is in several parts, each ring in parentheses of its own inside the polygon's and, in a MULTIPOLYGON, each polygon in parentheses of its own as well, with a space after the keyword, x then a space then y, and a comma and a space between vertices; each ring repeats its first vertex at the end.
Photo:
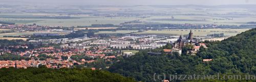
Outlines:
MULTIPOLYGON (((74 29, 51 29, 54 27, 38 25, 2 25, 2 28, 15 29, 19 30, 19 32, 21 32, 20 30, 42 31, 42 28, 47 31, 34 33, 32 36, 59 36, 57 32, 74 33, 77 31, 74 29)), ((19 37, 32 36, 24 35, 19 37)), ((87 33, 84 33, 83 36, 75 38, 28 39, 27 42, 29 44, 1 47, 0 68, 27 68, 40 65, 46 65, 48 68, 72 68, 74 65, 87 67, 89 64, 88 67, 95 69, 95 65, 90 63, 98 62, 101 59, 103 63, 110 63, 106 63, 104 68, 97 68, 107 69, 111 64, 119 61, 118 57, 130 57, 141 50, 151 51, 163 48, 168 44, 170 45, 169 48, 164 48, 158 52, 148 52, 148 55, 157 56, 163 53, 172 55, 174 52, 181 55, 184 52, 182 48, 185 46, 191 47, 186 53, 196 55, 200 47, 207 48, 203 43, 204 41, 212 42, 225 38, 194 37, 193 31, 190 30, 189 34, 179 36, 124 34, 105 37, 105 35, 100 36, 100 34, 88 36, 87 33), (8 57, 11 55, 13 59, 5 58, 5 55, 8 55, 8 57)), ((211 60, 204 59, 202 62, 211 60)))

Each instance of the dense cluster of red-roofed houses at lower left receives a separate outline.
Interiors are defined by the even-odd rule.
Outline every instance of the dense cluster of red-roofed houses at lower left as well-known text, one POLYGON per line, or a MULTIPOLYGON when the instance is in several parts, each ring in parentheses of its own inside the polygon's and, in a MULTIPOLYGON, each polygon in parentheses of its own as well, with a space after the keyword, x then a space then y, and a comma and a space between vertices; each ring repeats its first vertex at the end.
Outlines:
MULTIPOLYGON (((113 50, 106 48, 106 47, 95 47, 93 50, 89 49, 56 49, 54 47, 46 47, 46 48, 36 48, 27 50, 25 52, 2 52, 3 54, 10 53, 13 55, 17 55, 20 57, 28 57, 31 58, 30 60, 21 60, 21 61, 10 61, 10 60, 2 60, 0 61, 0 68, 8 68, 8 67, 17 67, 17 68, 27 68, 27 67, 38 67, 39 65, 46 65, 48 68, 70 68, 77 64, 84 64, 85 62, 91 63, 95 60, 85 60, 81 59, 80 62, 77 62, 71 58, 73 55, 84 55, 91 58, 102 58, 102 59, 113 59, 116 56, 106 56, 104 53, 111 53, 113 50), (54 57, 47 58, 46 60, 40 60, 39 55, 45 54, 47 56, 54 57), (62 57, 67 57, 67 59, 62 59, 62 57)), ((1 56, 2 54, 0 54, 1 56)))

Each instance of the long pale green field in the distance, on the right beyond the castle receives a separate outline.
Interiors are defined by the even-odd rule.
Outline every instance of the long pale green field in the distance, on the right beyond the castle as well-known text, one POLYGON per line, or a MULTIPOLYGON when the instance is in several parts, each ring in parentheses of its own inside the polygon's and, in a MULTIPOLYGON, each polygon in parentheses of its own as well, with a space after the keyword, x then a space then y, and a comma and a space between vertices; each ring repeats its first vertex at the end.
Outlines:
POLYGON ((226 18, 217 16, 198 16, 198 15, 174 15, 172 16, 152 16, 144 18, 141 21, 155 23, 170 23, 170 24, 216 24, 216 25, 241 25, 247 22, 255 21, 256 16, 226 18))

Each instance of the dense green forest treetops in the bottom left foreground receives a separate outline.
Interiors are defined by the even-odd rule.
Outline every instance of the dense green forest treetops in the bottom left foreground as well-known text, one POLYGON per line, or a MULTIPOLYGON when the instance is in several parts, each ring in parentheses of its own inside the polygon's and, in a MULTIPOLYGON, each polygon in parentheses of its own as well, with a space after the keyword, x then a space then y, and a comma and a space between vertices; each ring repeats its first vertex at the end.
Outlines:
POLYGON ((123 77, 104 70, 91 69, 51 69, 44 65, 39 68, 2 68, 0 81, 135 81, 131 77, 123 77))

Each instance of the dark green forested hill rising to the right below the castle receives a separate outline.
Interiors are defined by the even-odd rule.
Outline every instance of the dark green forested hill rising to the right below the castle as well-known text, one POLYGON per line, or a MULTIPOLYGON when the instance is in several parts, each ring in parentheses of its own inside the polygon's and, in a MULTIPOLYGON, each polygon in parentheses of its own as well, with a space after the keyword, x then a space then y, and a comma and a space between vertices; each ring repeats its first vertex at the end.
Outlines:
MULTIPOLYGON (((110 71, 131 76, 136 80, 154 81, 154 73, 161 74, 256 74, 256 28, 227 38, 222 42, 206 42, 196 56, 150 56, 142 51, 123 58, 110 67, 110 71), (202 62, 203 59, 213 59, 202 62)), ((227 80, 225 80, 227 81, 227 80)))

